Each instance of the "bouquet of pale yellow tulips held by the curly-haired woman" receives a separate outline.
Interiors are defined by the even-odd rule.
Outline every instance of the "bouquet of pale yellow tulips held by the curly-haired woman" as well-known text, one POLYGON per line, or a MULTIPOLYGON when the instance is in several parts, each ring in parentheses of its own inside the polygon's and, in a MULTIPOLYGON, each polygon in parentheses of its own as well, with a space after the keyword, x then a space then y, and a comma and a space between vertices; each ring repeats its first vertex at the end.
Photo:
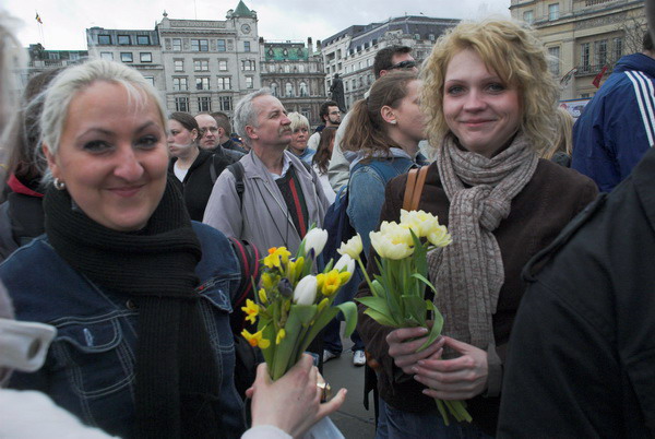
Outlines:
MULTIPOLYGON (((383 222, 380 232, 371 232, 371 245, 379 258, 376 260, 380 274, 371 281, 359 254, 354 253, 358 236, 353 242, 342 245, 340 253, 359 261, 371 290, 370 297, 357 300, 367 307, 366 315, 378 323, 392 328, 428 328, 428 312, 432 313, 432 328, 420 352, 432 344, 443 327, 443 316, 431 300, 426 300, 426 287, 437 290, 428 281, 428 251, 452 242, 445 226, 436 216, 424 211, 401 211, 401 222, 383 222)), ((436 400, 439 413, 449 425, 448 412, 457 420, 471 422, 463 401, 436 400)))

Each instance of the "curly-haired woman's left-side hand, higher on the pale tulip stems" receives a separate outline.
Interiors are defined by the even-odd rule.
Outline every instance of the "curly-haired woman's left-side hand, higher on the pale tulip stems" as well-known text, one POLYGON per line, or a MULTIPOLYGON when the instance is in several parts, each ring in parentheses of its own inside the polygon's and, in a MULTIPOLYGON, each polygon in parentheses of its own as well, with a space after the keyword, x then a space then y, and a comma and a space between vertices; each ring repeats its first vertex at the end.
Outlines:
POLYGON ((428 340, 427 334, 428 330, 426 328, 401 328, 386 335, 389 355, 405 373, 414 375, 417 361, 426 359, 433 354, 440 355, 443 348, 443 340, 441 339, 438 339, 437 342, 424 351, 416 352, 428 340))

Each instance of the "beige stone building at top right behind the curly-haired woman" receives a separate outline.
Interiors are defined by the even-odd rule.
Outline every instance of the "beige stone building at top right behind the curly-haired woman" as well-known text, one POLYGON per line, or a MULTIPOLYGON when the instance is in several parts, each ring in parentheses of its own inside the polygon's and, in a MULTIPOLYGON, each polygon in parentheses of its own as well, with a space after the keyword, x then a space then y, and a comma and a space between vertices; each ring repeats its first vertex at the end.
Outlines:
POLYGON ((512 0, 510 11, 537 29, 562 100, 592 97, 594 78, 605 66, 607 78, 621 56, 641 51, 646 29, 643 0, 512 0))

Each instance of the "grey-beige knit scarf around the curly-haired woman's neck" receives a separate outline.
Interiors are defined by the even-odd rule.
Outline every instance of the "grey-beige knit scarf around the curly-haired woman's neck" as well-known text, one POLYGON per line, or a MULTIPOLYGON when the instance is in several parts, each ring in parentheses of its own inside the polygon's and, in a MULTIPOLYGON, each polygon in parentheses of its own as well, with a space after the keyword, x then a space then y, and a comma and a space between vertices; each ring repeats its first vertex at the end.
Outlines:
POLYGON ((437 167, 450 200, 453 242, 431 252, 428 263, 445 335, 483 349, 495 342, 491 317, 504 269, 492 232, 510 214, 512 199, 532 179, 537 163, 521 132, 492 158, 462 151, 452 134, 439 149, 437 167))

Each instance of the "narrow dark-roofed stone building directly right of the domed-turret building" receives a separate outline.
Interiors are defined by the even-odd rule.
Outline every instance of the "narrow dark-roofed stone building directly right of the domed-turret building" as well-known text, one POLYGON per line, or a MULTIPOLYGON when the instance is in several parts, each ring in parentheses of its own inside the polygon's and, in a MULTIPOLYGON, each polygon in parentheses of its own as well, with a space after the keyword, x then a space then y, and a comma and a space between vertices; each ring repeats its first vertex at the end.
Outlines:
POLYGON ((302 41, 260 39, 261 82, 270 87, 287 111, 298 111, 311 126, 320 123, 319 107, 327 99, 323 57, 314 52, 311 38, 302 41))

